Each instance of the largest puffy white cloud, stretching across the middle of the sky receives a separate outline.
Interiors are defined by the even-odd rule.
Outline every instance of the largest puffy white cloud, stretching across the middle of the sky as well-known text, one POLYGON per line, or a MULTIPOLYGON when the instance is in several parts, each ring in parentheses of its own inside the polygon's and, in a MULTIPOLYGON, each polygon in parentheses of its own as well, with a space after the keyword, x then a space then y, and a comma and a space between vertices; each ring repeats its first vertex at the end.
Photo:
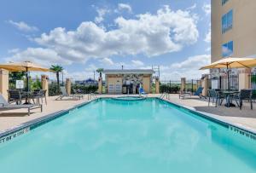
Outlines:
POLYGON ((23 57, 30 57, 31 61, 71 64, 112 55, 163 55, 197 42, 197 20, 189 11, 173 11, 165 6, 156 14, 137 14, 134 19, 118 17, 114 20, 117 27, 109 31, 84 21, 76 30, 56 27, 43 33, 33 39, 39 48, 19 51, 10 58, 26 55, 23 57))

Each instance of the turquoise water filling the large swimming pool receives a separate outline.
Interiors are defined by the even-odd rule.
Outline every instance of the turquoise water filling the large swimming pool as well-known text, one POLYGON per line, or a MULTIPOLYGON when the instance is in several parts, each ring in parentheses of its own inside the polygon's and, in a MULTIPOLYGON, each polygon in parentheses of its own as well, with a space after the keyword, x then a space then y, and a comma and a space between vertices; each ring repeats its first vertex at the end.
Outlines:
POLYGON ((256 142, 166 101, 93 101, 0 145, 0 172, 256 172, 256 142))

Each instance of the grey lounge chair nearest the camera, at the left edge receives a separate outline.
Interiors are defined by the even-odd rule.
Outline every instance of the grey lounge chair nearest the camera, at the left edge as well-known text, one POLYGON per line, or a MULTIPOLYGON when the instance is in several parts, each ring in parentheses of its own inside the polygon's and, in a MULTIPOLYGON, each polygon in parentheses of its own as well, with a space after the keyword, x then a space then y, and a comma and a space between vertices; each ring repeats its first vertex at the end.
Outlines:
POLYGON ((42 105, 14 105, 10 104, 8 101, 6 101, 3 97, 3 95, 0 94, 0 111, 6 111, 6 110, 13 110, 13 109, 27 109, 27 114, 30 116, 30 111, 32 109, 40 108, 41 112, 43 112, 43 106, 42 105))

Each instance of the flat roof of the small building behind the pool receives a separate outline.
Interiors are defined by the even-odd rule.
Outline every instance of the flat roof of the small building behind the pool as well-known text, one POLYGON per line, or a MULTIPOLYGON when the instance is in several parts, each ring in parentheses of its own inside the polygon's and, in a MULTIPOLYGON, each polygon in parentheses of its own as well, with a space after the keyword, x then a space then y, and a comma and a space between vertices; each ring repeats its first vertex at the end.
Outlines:
POLYGON ((104 70, 105 74, 153 74, 154 70, 152 69, 119 69, 119 70, 104 70))

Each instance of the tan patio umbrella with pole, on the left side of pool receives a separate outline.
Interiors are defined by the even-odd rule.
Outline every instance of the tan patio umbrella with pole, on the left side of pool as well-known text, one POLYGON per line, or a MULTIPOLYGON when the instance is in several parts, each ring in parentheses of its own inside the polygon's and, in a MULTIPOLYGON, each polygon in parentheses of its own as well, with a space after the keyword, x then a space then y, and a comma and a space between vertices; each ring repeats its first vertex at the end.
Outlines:
POLYGON ((38 71, 38 72, 51 72, 49 68, 39 66, 30 61, 24 62, 9 62, 5 64, 0 64, 0 68, 8 70, 9 72, 26 72, 26 91, 28 91, 28 72, 38 71))

